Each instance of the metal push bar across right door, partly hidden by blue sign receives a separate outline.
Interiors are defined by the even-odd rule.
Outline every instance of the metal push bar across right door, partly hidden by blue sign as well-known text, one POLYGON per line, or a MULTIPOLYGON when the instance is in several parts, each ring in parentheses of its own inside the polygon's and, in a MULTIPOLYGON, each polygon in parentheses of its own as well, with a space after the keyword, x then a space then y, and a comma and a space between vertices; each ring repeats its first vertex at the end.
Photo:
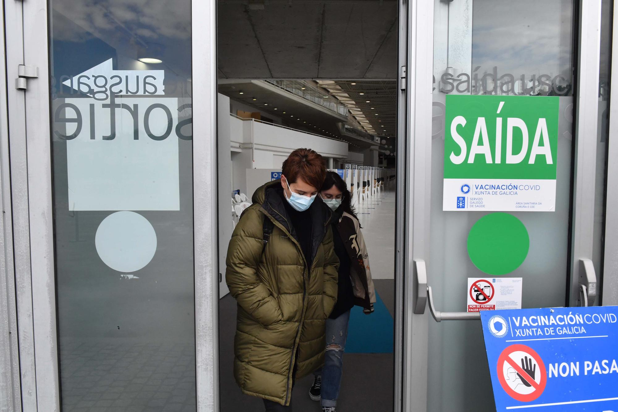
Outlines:
MULTIPOLYGON (((415 314, 424 314, 425 306, 429 303, 431 315, 436 322, 442 320, 476 320, 481 319, 480 312, 441 312, 434 306, 431 286, 427 285, 427 268, 425 260, 414 260, 413 273, 416 288, 416 301, 414 304, 415 314)), ((596 300, 596 274, 595 267, 590 259, 580 259, 580 306, 591 306, 596 300)))

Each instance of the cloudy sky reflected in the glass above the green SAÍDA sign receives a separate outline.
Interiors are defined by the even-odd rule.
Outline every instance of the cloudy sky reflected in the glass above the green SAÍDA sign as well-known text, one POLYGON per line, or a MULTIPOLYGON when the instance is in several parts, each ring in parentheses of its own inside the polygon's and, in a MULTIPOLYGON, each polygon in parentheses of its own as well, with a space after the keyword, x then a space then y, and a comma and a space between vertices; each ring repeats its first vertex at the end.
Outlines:
POLYGON ((569 74, 572 68, 570 0, 475 0, 472 66, 519 74, 569 74))

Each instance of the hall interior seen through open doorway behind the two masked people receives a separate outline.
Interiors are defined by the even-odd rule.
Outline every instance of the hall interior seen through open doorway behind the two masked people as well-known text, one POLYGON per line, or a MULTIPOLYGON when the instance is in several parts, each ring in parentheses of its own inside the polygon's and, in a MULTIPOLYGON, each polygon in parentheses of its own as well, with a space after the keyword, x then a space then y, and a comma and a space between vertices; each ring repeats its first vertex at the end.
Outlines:
MULTIPOLYGON (((227 245, 253 192, 296 148, 320 153, 352 192, 375 284, 375 312, 350 314, 337 411, 392 411, 396 236, 397 3, 218 2, 220 410, 262 411, 234 380, 237 303, 227 245)), ((313 375, 295 382, 297 411, 313 375)))

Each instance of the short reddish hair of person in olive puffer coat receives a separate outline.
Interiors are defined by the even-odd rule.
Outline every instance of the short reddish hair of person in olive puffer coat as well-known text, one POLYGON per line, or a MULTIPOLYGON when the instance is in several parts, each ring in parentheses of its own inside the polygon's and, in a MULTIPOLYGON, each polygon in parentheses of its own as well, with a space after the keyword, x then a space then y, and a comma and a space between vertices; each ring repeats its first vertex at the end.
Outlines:
POLYGON ((282 173, 289 184, 298 178, 320 190, 326 179, 326 166, 320 153, 308 148, 299 148, 290 153, 283 162, 282 173))

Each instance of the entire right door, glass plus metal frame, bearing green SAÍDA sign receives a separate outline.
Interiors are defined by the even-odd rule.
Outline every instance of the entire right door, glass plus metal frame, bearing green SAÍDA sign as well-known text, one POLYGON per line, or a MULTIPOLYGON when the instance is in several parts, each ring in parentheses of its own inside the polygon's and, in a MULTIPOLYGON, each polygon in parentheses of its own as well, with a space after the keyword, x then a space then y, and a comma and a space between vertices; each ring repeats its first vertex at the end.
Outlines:
POLYGON ((533 2, 421 3, 407 6, 398 148, 402 410, 491 411, 477 319, 493 283, 516 285, 520 307, 592 298, 579 291, 595 276, 586 199, 596 136, 586 130, 596 130, 601 2, 544 2, 542 17, 527 12, 533 2))

